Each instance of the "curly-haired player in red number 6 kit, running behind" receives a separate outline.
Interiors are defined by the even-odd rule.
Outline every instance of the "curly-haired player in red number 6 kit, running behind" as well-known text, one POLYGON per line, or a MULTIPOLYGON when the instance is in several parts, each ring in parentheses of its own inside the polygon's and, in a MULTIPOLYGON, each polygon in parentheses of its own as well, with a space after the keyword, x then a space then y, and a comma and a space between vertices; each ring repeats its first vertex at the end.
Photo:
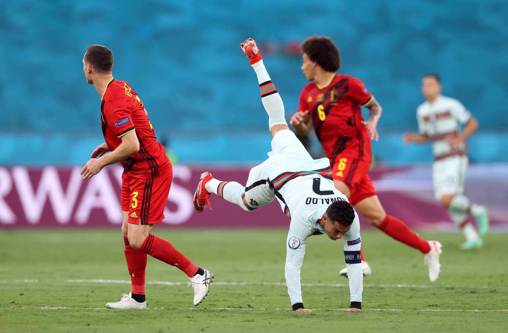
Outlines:
MULTIPOLYGON (((423 254, 431 251, 429 243, 411 231, 402 221, 385 213, 368 176, 372 153, 370 140, 378 140, 376 126, 382 108, 368 92, 362 81, 336 74, 340 69, 340 55, 335 43, 325 36, 307 38, 301 44, 302 71, 307 84, 300 95, 298 112, 291 118, 298 135, 306 135, 310 124, 330 159, 335 187, 350 200, 367 221, 402 243, 423 254), (370 111, 369 120, 362 117, 361 106, 370 111), (370 133, 370 135, 369 135, 370 133)), ((364 275, 371 270, 362 253, 364 275)), ((342 269, 341 275, 347 275, 342 269)), ((431 281, 437 276, 429 274, 431 281)))

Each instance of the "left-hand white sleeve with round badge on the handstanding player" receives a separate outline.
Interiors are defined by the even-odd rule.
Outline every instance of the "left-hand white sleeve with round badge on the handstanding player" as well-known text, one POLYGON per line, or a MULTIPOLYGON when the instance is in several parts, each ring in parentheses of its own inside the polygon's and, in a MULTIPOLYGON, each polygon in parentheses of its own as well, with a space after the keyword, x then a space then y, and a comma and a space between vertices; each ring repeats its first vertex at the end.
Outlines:
MULTIPOLYGON (((308 223, 308 222, 307 222, 308 223)), ((307 223, 292 219, 289 228, 288 239, 286 241, 286 263, 284 275, 288 285, 288 294, 291 299, 291 305, 302 304, 302 289, 300 285, 300 268, 302 267, 303 257, 305 256, 305 243, 310 236, 310 227, 307 223)))

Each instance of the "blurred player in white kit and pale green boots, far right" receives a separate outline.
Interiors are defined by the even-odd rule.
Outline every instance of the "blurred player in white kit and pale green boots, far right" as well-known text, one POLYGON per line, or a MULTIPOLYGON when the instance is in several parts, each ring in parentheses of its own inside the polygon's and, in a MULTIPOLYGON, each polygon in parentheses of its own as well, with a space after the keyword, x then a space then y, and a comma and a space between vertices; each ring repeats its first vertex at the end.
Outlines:
POLYGON ((481 248, 481 236, 485 236, 489 231, 487 208, 471 202, 463 194, 468 164, 466 140, 478 129, 478 121, 461 102, 442 96, 441 90, 437 74, 423 77, 422 94, 426 101, 417 109, 419 133, 405 133, 404 143, 432 141, 435 198, 441 201, 448 210, 450 219, 462 229, 466 242, 461 248, 481 248), (460 127, 464 124, 464 130, 460 132, 460 127), (468 221, 469 213, 477 221, 480 234, 468 221))

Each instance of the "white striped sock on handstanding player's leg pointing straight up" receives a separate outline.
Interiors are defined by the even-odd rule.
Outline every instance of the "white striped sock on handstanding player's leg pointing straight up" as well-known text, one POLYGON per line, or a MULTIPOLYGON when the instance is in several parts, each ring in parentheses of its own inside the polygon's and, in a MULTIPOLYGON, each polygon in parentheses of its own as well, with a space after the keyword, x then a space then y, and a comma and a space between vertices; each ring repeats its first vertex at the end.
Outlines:
POLYGON ((266 71, 263 60, 259 60, 259 62, 251 66, 258 76, 260 88, 265 87, 261 90, 269 92, 268 94, 263 91, 261 92, 261 102, 263 102, 266 113, 268 113, 268 128, 271 130, 275 125, 288 125, 284 118, 284 104, 270 79, 270 75, 266 71), (270 88, 270 86, 273 88, 270 88), (267 88, 269 89, 266 90, 267 88))

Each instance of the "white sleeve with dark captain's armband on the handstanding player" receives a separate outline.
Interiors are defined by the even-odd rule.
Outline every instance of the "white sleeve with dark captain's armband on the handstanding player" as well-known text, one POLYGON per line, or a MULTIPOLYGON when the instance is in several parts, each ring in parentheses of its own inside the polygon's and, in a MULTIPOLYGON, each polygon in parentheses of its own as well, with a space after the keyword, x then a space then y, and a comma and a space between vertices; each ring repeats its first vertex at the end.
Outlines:
POLYGON ((360 220, 355 213, 355 220, 351 229, 344 234, 344 259, 347 266, 347 276, 350 282, 351 303, 362 302, 363 274, 360 247, 360 220))

